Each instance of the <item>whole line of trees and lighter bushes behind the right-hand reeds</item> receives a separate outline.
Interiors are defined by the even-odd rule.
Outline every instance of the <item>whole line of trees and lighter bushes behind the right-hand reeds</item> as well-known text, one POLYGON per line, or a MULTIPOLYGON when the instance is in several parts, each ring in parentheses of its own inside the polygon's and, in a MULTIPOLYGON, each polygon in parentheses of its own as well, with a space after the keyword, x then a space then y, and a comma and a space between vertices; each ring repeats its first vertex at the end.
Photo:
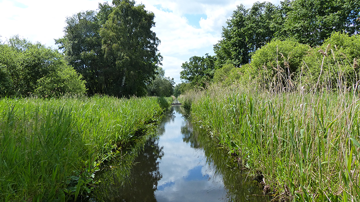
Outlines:
POLYGON ((182 64, 176 96, 210 83, 311 91, 359 80, 359 0, 255 2, 249 9, 237 6, 226 23, 214 56, 182 64))

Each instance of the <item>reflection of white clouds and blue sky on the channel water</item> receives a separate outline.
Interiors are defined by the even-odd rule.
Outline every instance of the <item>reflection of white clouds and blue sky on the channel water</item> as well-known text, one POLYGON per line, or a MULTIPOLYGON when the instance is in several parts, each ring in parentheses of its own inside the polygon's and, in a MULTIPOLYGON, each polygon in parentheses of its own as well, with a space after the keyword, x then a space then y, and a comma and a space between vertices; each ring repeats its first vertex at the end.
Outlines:
POLYGON ((216 173, 215 165, 209 164, 202 149, 191 148, 190 143, 182 141, 181 119, 176 113, 174 122, 165 124, 159 140, 164 155, 159 161, 162 179, 155 191, 157 201, 223 201, 227 192, 222 175, 216 173))

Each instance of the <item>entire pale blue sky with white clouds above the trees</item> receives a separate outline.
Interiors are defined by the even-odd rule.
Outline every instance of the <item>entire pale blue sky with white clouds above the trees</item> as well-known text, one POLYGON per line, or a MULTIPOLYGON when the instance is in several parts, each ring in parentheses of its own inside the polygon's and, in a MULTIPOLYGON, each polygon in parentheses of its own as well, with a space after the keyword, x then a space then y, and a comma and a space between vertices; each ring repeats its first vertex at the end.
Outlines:
MULTIPOLYGON (((54 39, 64 36, 65 20, 76 13, 97 10, 112 0, 0 0, 0 40, 19 35, 57 48, 54 39)), ((161 40, 165 76, 181 83, 182 63, 205 54, 214 55, 222 27, 237 5, 251 8, 257 0, 136 0, 155 14, 152 30, 161 40)), ((268 0, 278 4, 279 0, 268 0)))

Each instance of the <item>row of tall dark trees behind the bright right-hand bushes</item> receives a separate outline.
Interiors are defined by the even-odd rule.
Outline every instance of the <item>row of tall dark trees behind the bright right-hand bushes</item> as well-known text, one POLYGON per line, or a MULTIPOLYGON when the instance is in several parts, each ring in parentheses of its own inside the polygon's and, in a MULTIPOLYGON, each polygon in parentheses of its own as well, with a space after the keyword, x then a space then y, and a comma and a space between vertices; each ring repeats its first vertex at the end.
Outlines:
POLYGON ((239 5, 214 45, 217 66, 247 64, 252 53, 273 38, 316 46, 332 32, 357 34, 359 5, 359 0, 284 0, 279 6, 255 2, 250 9, 239 5))

